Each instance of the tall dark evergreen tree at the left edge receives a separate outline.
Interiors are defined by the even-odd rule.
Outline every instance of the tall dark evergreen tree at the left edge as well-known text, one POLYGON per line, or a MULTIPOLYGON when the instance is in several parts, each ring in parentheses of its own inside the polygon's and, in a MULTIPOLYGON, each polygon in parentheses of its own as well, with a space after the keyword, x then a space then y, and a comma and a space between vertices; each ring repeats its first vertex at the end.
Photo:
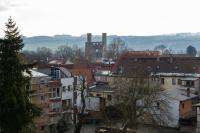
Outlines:
POLYGON ((21 57, 23 39, 16 23, 9 18, 5 37, 0 40, 0 132, 19 133, 40 109, 30 101, 30 67, 21 57), (25 74, 27 73, 27 74, 25 74), (29 76, 27 76, 29 75, 29 76))

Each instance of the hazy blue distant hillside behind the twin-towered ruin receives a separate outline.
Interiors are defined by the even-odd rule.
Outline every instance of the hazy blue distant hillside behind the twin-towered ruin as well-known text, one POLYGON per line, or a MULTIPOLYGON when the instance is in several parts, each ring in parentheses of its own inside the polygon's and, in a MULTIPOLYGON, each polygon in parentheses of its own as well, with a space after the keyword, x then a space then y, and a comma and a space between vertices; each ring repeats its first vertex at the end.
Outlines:
MULTIPOLYGON (((188 45, 192 45, 200 50, 200 34, 199 33, 179 33, 172 35, 158 36, 108 36, 108 44, 113 38, 120 37, 123 39, 129 48, 134 50, 154 49, 157 45, 165 45, 175 51, 185 51, 188 45)), ((96 35, 92 38, 94 41, 100 41, 101 36, 96 35)), ((86 35, 71 36, 71 35, 55 35, 55 36, 33 36, 24 37, 25 50, 36 50, 37 47, 48 47, 56 50, 60 45, 78 45, 84 47, 86 35)))

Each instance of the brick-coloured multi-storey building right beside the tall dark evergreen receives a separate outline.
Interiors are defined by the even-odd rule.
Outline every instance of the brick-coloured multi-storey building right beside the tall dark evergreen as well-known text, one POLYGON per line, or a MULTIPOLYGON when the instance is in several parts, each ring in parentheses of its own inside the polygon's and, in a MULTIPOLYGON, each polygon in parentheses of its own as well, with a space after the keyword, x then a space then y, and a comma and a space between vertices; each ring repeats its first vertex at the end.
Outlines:
POLYGON ((61 114, 61 83, 43 73, 31 70, 31 101, 42 109, 41 117, 34 119, 37 132, 55 131, 61 114))

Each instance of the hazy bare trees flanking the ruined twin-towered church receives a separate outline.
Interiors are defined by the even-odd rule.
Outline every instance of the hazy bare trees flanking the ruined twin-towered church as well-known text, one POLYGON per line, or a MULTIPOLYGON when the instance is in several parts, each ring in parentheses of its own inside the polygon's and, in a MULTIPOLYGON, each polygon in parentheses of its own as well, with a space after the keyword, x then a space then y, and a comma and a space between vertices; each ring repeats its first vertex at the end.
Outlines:
MULTIPOLYGON (((126 51, 128 51, 128 47, 125 41, 121 38, 114 38, 108 45, 107 56, 108 58, 117 59, 126 51)), ((36 51, 23 50, 22 53, 28 62, 39 61, 45 63, 51 59, 65 59, 73 62, 76 59, 82 60, 85 58, 84 48, 77 45, 61 45, 56 50, 38 47, 36 51)))

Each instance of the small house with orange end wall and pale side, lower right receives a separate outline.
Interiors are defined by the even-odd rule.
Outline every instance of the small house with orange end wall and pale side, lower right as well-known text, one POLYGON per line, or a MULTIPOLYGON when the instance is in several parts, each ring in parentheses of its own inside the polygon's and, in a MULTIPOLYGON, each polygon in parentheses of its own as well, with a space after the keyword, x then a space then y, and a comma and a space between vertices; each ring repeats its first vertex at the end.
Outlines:
POLYGON ((179 128, 186 122, 194 121, 196 111, 193 107, 198 103, 198 95, 190 92, 189 89, 166 89, 162 92, 162 98, 168 103, 168 126, 179 128))

